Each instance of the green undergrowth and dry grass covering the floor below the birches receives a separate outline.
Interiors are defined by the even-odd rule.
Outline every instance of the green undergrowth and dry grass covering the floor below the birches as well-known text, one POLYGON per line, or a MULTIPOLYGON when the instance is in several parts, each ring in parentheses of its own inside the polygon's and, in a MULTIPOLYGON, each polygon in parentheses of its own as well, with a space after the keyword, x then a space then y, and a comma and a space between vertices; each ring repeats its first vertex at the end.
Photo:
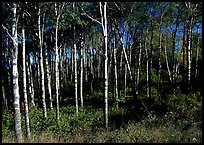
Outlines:
MULTIPOLYGON (((184 129, 187 121, 175 119, 173 113, 164 116, 150 114, 136 121, 124 109, 111 108, 109 128, 103 127, 103 110, 84 107, 76 116, 74 107, 60 108, 60 119, 55 120, 55 110, 48 110, 47 119, 42 111, 30 112, 31 137, 25 139, 25 123, 22 130, 26 143, 182 143, 202 142, 202 130, 198 127, 184 129), (131 119, 132 118, 132 119, 131 119)), ((13 118, 3 113, 2 142, 15 143, 13 118)))

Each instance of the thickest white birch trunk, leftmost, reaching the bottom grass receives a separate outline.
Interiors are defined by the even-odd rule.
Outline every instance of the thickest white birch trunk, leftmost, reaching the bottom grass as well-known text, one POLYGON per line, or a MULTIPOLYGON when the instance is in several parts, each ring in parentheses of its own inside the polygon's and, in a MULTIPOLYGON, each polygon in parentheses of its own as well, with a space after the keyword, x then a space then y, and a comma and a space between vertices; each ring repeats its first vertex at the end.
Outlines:
POLYGON ((18 86, 18 38, 17 38, 17 16, 16 16, 17 4, 13 4, 13 19, 12 19, 12 36, 13 36, 13 54, 12 54, 12 70, 13 70, 13 95, 14 103, 13 107, 15 110, 15 131, 17 142, 21 143, 23 141, 22 131, 21 131, 21 113, 20 113, 20 95, 18 86))

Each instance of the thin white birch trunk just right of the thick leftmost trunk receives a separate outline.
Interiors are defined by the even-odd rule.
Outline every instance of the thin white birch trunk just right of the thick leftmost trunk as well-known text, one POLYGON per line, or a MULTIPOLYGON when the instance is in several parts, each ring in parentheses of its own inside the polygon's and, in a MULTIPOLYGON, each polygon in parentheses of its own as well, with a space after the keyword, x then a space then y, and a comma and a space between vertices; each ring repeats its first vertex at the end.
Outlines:
POLYGON ((25 27, 24 27, 24 13, 22 14, 23 24, 22 24, 22 59, 23 59, 23 96, 25 105, 25 125, 26 125, 26 135, 30 137, 30 126, 29 126, 29 112, 28 112, 28 98, 27 98, 27 88, 26 88, 26 58, 25 58, 25 27))

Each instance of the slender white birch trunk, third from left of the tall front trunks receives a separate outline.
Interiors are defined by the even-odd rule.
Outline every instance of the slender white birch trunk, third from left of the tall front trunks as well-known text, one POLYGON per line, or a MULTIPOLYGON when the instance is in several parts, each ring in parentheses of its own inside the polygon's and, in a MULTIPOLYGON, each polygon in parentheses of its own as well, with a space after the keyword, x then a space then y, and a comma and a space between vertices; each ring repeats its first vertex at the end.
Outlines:
MULTIPOLYGON (((46 102, 45 102, 45 82, 44 82, 44 67, 43 67, 43 34, 41 34, 41 23, 40 23, 40 13, 41 9, 38 10, 38 35, 39 35, 39 46, 40 46, 40 71, 41 71, 41 94, 42 94, 42 105, 43 105, 43 117, 47 117, 47 109, 46 109, 46 102)), ((43 33, 43 31, 42 31, 43 33)))

